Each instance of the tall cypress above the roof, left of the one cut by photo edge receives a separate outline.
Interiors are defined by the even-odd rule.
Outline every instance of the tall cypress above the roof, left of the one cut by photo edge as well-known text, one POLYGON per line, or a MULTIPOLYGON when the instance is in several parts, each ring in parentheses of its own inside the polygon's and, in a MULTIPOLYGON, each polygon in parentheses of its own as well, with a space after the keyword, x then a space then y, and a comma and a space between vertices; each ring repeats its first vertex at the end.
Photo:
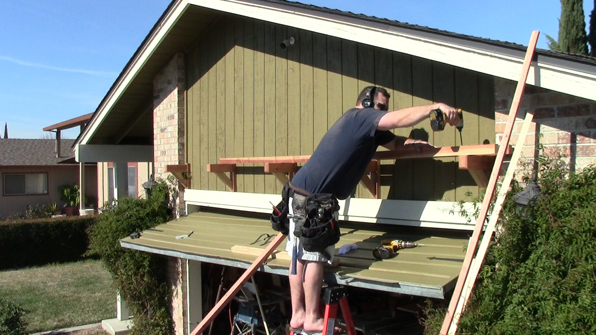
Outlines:
POLYGON ((586 36, 585 16, 582 0, 560 0, 561 18, 559 19, 558 41, 547 35, 548 47, 552 51, 572 54, 588 54, 588 36, 586 36))

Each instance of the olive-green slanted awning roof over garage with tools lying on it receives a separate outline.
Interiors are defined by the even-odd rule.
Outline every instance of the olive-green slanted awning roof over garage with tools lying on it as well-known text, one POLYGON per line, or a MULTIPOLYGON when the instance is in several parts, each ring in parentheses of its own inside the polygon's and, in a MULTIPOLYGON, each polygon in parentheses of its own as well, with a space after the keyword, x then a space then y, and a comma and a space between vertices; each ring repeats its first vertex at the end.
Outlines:
MULTIPOLYGON (((123 247, 206 262, 247 267, 256 256, 232 252, 236 245, 265 246, 277 233, 266 218, 254 213, 197 212, 123 238, 123 247), (176 239, 194 231, 189 237, 176 239), (197 258, 198 257, 198 258, 197 258), (246 266, 244 266, 246 265, 246 266)), ((465 256, 465 232, 393 225, 340 222, 342 237, 336 244, 337 267, 326 267, 325 280, 423 296, 443 297, 455 284, 465 256), (425 244, 399 250, 392 259, 377 260, 372 250, 392 238, 425 244), (339 247, 355 243, 357 250, 337 255, 339 247), (407 289, 406 289, 407 288, 407 289)), ((278 250, 285 250, 282 243, 278 250)), ((273 259, 265 271, 287 275, 288 260, 273 259)))

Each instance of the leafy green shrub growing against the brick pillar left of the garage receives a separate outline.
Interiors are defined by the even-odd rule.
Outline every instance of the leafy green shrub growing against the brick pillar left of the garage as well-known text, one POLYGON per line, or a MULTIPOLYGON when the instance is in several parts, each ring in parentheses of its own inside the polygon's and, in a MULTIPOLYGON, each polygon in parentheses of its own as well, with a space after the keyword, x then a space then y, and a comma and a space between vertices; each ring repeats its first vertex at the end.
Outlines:
POLYGON ((114 286, 135 316, 131 334, 172 334, 170 290, 166 284, 167 259, 120 247, 132 232, 155 227, 170 219, 167 186, 162 182, 151 197, 120 198, 106 204, 91 230, 89 255, 99 255, 113 276, 114 286))

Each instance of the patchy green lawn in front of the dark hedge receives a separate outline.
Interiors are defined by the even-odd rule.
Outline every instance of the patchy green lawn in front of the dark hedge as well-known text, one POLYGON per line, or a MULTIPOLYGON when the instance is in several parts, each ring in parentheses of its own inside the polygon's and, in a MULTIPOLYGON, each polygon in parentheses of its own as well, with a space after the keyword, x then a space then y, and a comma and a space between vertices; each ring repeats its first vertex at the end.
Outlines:
POLYGON ((116 291, 110 284, 100 260, 0 272, 0 296, 29 310, 29 333, 114 318, 116 291))

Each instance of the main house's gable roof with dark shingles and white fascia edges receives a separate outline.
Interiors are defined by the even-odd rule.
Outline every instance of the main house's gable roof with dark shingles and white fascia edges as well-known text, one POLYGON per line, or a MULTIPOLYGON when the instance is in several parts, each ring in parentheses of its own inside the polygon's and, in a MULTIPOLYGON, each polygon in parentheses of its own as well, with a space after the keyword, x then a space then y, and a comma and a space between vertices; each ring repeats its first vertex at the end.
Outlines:
MULTIPOLYGON (((153 78, 221 14, 311 30, 505 79, 519 80, 526 46, 285 0, 173 0, 136 49, 76 144, 88 144, 111 111, 135 120, 153 78)), ((528 33, 528 38, 530 32, 528 33)), ((526 83, 596 100, 596 60, 539 49, 526 83)), ((125 128, 122 128, 125 129, 125 128)), ((102 134, 105 135, 105 134, 102 134)), ((102 143, 117 144, 117 143, 102 143)))

